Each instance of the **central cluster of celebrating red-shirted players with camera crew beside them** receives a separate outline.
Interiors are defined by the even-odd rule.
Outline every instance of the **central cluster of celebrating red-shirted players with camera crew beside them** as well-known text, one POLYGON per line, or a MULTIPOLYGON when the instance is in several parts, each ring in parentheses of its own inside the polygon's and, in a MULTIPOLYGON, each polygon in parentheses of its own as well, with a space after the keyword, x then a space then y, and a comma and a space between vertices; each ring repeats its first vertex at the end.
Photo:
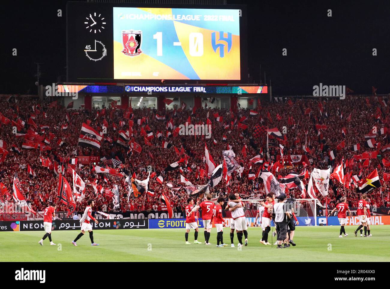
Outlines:
MULTIPOLYGON (((274 213, 275 206, 275 195, 273 193, 268 193, 266 199, 260 202, 259 209, 255 218, 254 224, 257 224, 258 220, 261 220, 262 227, 262 238, 260 243, 263 245, 271 245, 268 242, 268 234, 271 231, 271 219, 276 224, 276 230, 272 233, 273 236, 277 235, 277 241, 274 245, 278 245, 277 248, 288 248, 291 245, 295 246, 296 244, 293 241, 295 225, 299 225, 299 222, 295 216, 293 203, 294 199, 286 199, 284 193, 280 194, 278 197, 278 202, 276 204, 282 205, 279 211, 274 213), (284 246, 282 246, 284 245, 284 246)), ((204 227, 204 243, 206 245, 211 245, 210 232, 212 224, 214 222, 217 230, 217 247, 225 247, 227 244, 223 242, 223 227, 225 226, 225 219, 222 216, 222 210, 230 211, 230 246, 234 247, 234 230, 236 230, 238 238, 238 247, 248 245, 248 231, 246 218, 244 213, 245 204, 241 200, 239 193, 234 193, 229 195, 229 200, 227 205, 223 209, 225 204, 225 199, 223 197, 218 197, 216 204, 211 201, 211 195, 206 195, 206 200, 203 202, 199 201, 195 205, 195 201, 192 197, 187 199, 187 206, 185 208, 186 213, 186 244, 190 245, 188 241, 188 234, 191 229, 195 230, 194 234, 194 244, 201 244, 202 242, 198 241, 198 223, 197 218, 199 217, 198 210, 202 210, 202 221, 204 227), (243 242, 244 239, 244 242, 243 242)))

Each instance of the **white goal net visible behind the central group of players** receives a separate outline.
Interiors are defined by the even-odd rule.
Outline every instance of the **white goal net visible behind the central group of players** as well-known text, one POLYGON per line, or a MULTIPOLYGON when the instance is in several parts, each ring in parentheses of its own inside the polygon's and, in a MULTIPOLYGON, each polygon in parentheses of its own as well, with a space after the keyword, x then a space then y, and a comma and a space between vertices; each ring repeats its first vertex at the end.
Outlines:
MULTIPOLYGON (((242 200, 244 203, 244 213, 246 218, 255 218, 259 207, 261 207, 260 199, 242 200)), ((276 200, 277 202, 277 200, 276 200)), ((315 226, 317 225, 316 214, 316 199, 295 199, 293 203, 295 216, 301 225, 315 226)), ((262 213, 262 210, 261 210, 262 213)))

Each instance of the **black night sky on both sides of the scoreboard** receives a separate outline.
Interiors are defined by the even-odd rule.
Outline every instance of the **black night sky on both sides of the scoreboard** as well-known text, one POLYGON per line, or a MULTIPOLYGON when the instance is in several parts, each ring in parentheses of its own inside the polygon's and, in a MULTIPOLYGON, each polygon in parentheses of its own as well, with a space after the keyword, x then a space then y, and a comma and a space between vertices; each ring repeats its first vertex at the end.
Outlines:
MULTIPOLYGON (((37 93, 34 62, 43 63, 42 84, 66 70, 66 2, 1 4, 0 94, 37 93), (63 17, 57 17, 62 9, 63 17), (18 56, 12 56, 12 48, 18 56)), ((140 1, 141 2, 141 1, 140 1)), ((390 2, 235 1, 248 5, 249 73, 271 79, 273 95, 312 94, 313 85, 346 85, 356 93, 390 92, 390 2), (327 17, 332 9, 332 17, 327 17), (287 56, 282 49, 287 48, 287 56), (378 56, 372 56, 372 48, 378 56)))

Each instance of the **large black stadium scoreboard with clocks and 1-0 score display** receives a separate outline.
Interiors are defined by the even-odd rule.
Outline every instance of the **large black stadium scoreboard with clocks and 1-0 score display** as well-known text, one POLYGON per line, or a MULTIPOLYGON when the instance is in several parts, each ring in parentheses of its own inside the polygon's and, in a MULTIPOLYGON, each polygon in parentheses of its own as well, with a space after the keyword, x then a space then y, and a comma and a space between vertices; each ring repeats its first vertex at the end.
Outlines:
POLYGON ((67 81, 246 80, 243 7, 121 5, 68 2, 67 81))

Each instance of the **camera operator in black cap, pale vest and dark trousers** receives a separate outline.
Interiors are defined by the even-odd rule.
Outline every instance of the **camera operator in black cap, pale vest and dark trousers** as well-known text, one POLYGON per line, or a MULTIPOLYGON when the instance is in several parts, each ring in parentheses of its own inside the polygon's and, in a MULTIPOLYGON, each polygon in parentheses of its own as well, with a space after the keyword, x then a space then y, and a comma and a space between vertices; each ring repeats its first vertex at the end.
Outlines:
POLYGON ((275 213, 276 230, 278 232, 277 248, 282 249, 289 247, 289 245, 285 243, 285 240, 287 238, 287 218, 290 218, 291 215, 286 211, 286 195, 284 193, 281 193, 277 198, 278 202, 275 203, 275 205, 273 206, 273 211, 275 213), (282 247, 283 243, 284 247, 282 247))

